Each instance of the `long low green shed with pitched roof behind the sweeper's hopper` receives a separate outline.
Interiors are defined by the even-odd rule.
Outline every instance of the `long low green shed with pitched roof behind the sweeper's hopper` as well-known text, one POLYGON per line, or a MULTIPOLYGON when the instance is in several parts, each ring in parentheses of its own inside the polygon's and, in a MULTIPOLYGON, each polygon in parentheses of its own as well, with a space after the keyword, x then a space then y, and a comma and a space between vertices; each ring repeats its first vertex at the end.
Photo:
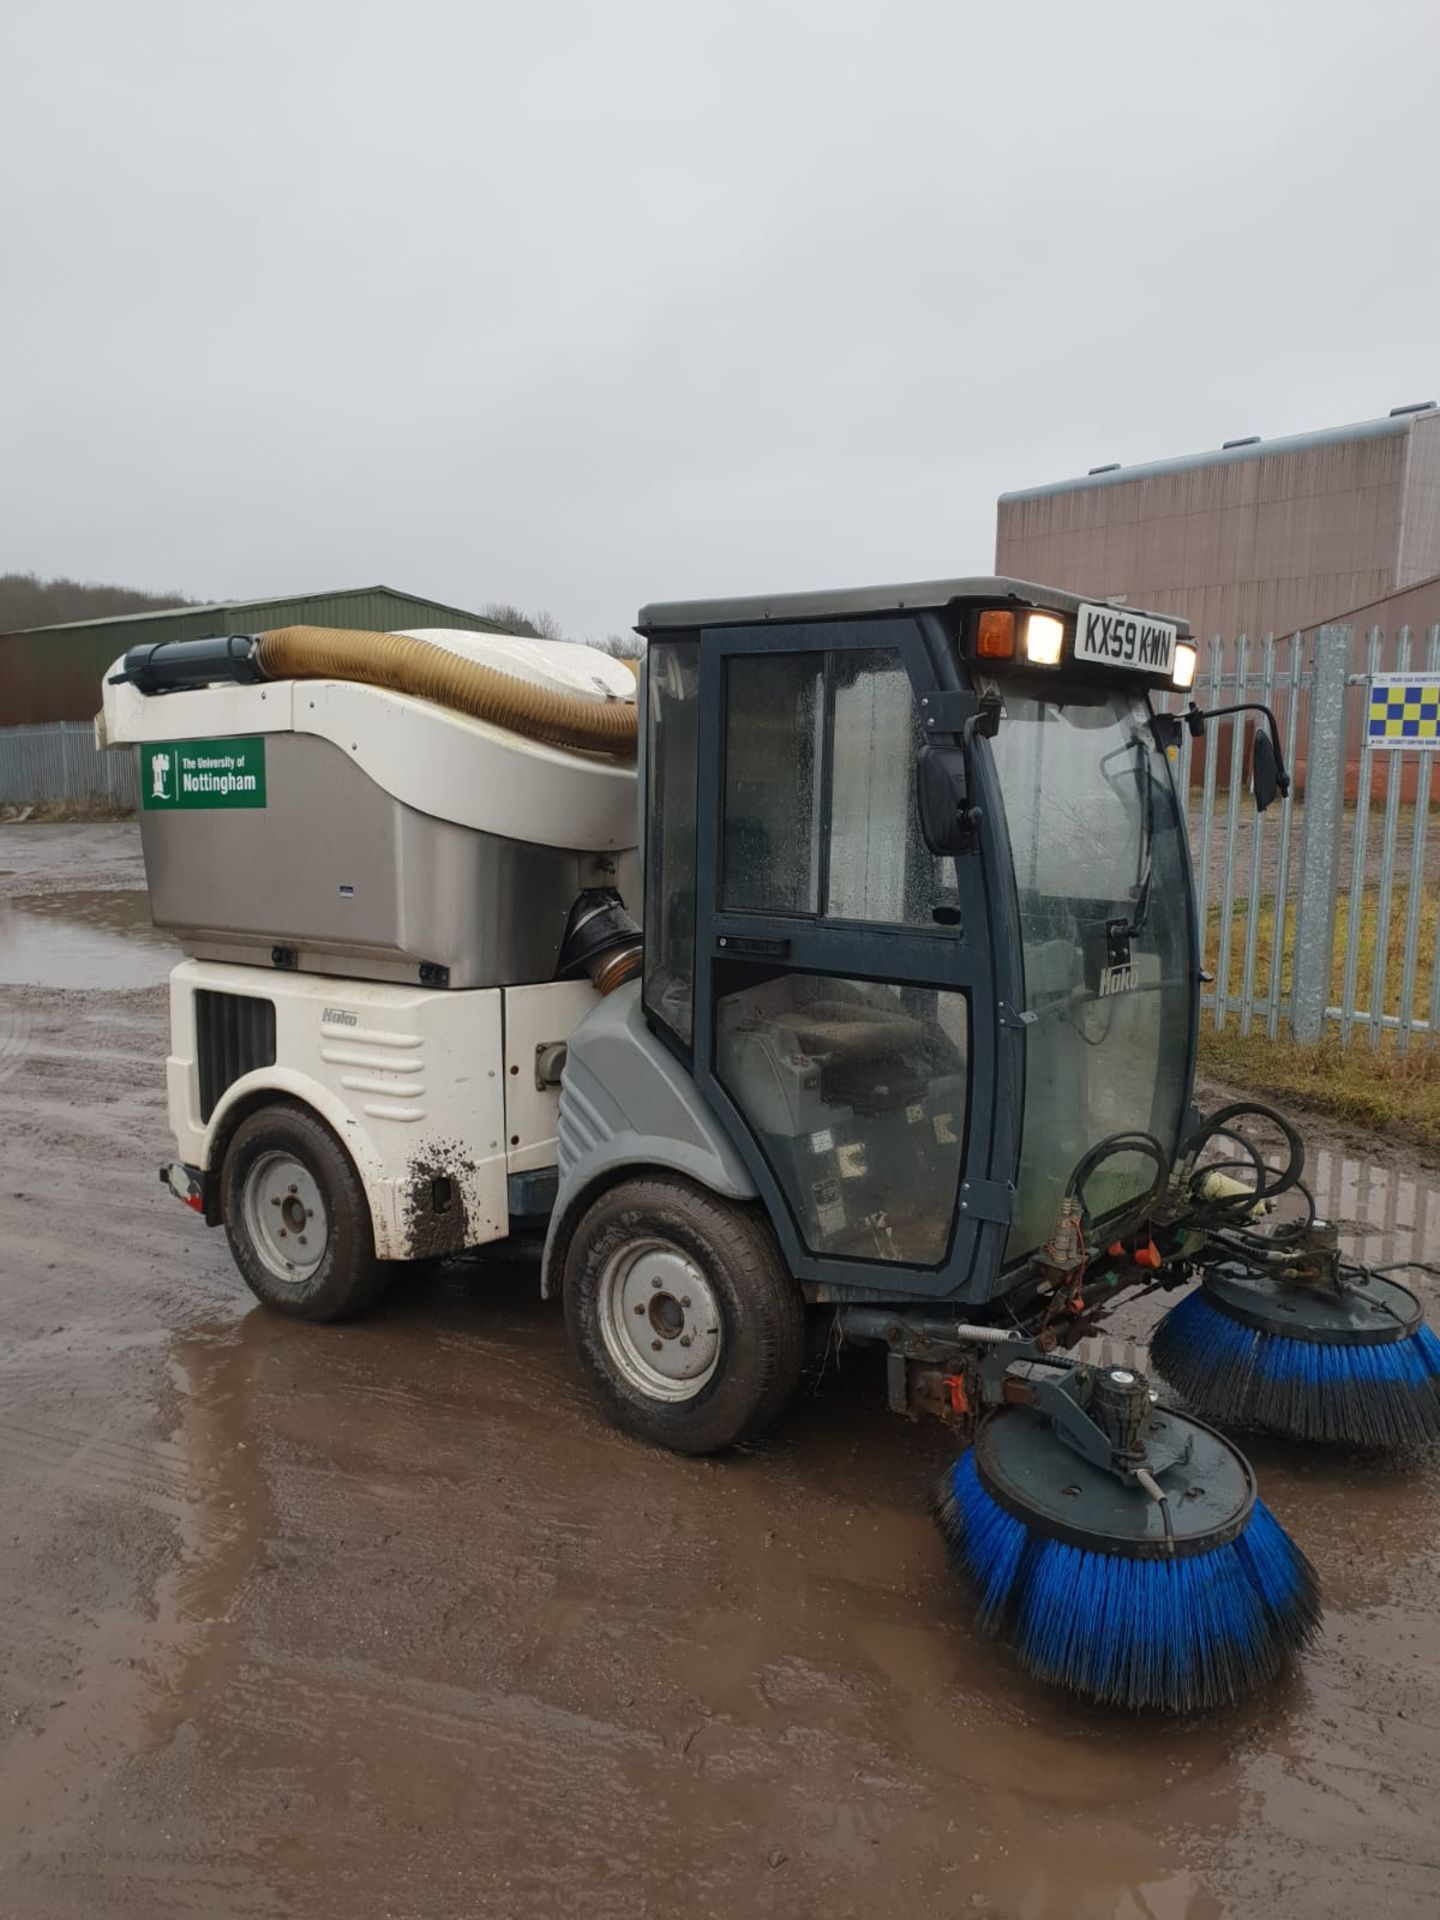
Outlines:
POLYGON ((273 626, 353 626, 371 634, 413 626, 507 632, 499 620, 394 588, 346 588, 340 593, 221 601, 215 607, 33 626, 21 634, 0 634, 0 726, 92 720, 100 710, 100 680, 129 647, 156 639, 205 639, 209 634, 261 634, 273 626))

